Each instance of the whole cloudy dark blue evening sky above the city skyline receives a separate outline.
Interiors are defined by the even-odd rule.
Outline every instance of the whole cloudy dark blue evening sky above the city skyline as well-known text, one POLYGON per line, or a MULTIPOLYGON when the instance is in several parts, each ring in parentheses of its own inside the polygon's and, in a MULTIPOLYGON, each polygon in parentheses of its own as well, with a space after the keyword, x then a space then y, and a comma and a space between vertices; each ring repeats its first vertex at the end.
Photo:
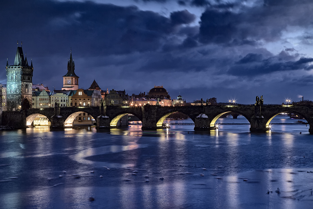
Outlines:
POLYGON ((2 1, 0 82, 17 41, 33 83, 60 90, 70 49, 79 87, 129 95, 163 85, 192 102, 313 100, 311 0, 2 1))

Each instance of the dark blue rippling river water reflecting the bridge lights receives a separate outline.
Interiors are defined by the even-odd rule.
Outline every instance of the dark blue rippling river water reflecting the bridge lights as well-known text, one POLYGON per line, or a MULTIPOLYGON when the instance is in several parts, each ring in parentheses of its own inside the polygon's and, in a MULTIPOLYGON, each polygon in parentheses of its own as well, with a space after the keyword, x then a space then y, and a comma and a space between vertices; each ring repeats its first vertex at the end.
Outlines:
POLYGON ((312 208, 313 136, 294 121, 277 116, 268 133, 240 116, 204 132, 190 119, 2 131, 0 208, 312 208))

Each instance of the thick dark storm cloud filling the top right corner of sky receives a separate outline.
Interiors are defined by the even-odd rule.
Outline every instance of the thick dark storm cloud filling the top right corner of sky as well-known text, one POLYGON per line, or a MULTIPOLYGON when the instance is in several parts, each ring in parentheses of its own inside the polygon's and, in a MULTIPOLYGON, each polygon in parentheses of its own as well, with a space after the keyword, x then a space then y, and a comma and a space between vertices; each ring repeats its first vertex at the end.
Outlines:
MULTIPOLYGON (((214 4, 201 16, 199 40, 205 44, 230 45, 277 41, 290 26, 309 27, 312 24, 311 6, 313 3, 307 1, 274 1, 253 7, 239 3, 214 4), (233 7, 233 10, 229 9, 233 7)), ((310 36, 304 39, 310 39, 310 36)))

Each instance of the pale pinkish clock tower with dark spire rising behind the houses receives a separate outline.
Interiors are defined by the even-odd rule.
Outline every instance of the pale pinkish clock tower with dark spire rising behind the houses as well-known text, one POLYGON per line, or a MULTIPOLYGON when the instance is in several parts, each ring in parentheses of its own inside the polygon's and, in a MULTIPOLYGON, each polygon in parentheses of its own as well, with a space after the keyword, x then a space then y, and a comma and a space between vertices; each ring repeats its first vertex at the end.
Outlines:
POLYGON ((78 89, 78 76, 76 76, 75 72, 74 60, 72 58, 72 50, 71 55, 69 57, 69 61, 67 61, 67 74, 63 76, 63 87, 62 90, 77 90, 78 89))

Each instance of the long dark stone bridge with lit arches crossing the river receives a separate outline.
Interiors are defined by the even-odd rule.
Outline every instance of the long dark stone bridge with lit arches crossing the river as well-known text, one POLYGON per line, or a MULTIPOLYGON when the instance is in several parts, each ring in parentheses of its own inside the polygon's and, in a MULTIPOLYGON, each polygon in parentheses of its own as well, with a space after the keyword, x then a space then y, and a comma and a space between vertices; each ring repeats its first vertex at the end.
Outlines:
POLYGON ((3 124, 11 123, 15 128, 26 128, 39 114, 51 122, 50 128, 70 127, 74 118, 86 112, 96 119, 96 128, 117 128, 117 122, 126 114, 133 114, 142 122, 143 130, 163 128, 165 118, 174 112, 188 115, 195 123, 195 130, 216 129, 215 122, 225 113, 243 115, 250 123, 250 131, 268 131, 270 121, 283 112, 295 113, 309 123, 309 132, 313 133, 313 106, 295 105, 238 105, 238 106, 179 106, 161 107, 145 105, 100 106, 100 107, 54 107, 27 109, 19 112, 3 112, 3 124))

